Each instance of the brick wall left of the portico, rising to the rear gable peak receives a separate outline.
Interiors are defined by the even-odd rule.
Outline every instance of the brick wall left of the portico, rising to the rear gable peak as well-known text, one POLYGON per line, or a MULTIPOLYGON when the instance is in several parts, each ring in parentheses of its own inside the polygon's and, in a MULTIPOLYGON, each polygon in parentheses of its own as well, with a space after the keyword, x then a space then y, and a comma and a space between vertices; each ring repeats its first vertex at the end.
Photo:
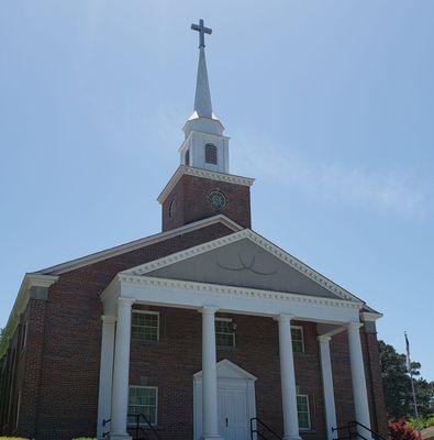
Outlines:
POLYGON ((15 332, 3 358, 7 400, 0 402, 0 432, 35 436, 37 440, 66 440, 94 433, 102 315, 99 294, 121 271, 232 232, 218 223, 137 249, 65 273, 49 288, 46 300, 31 299, 22 316, 22 322, 32 329, 29 343, 20 350, 21 332, 15 332), (18 385, 18 374, 22 375, 23 365, 29 377, 26 384, 31 384, 25 392, 27 421, 20 421, 15 429, 18 393, 24 389, 18 385), (38 394, 36 398, 32 396, 34 393, 38 394))

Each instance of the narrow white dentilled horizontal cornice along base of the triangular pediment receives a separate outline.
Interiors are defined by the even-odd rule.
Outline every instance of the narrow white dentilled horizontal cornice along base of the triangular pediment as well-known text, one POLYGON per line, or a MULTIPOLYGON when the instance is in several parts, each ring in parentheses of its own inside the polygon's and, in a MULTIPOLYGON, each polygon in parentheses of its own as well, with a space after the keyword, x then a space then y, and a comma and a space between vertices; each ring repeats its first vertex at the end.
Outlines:
POLYGON ((199 293, 212 293, 229 295, 232 297, 244 299, 275 299, 279 301, 283 300, 321 306, 337 306, 352 309, 360 309, 363 307, 363 304, 360 304, 359 301, 316 297, 311 295, 300 295, 287 292, 261 290, 246 287, 224 286, 218 284, 185 282, 180 279, 156 278, 151 276, 140 276, 124 273, 119 274, 118 278, 121 284, 132 283, 151 286, 153 288, 171 288, 199 293))

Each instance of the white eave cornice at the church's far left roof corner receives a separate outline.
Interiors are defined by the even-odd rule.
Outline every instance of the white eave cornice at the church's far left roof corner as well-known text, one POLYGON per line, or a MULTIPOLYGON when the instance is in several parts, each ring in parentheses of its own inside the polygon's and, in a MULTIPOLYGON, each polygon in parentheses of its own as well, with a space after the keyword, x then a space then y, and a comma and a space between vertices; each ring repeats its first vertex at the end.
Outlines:
POLYGON ((30 299, 30 289, 32 287, 49 287, 56 283, 58 276, 53 275, 41 275, 41 274, 25 274, 21 283, 20 290, 18 293, 15 302, 12 307, 11 314, 9 315, 8 323, 3 329, 3 333, 0 340, 0 358, 8 350, 9 340, 15 332, 16 324, 20 320, 20 315, 25 310, 25 307, 30 299))

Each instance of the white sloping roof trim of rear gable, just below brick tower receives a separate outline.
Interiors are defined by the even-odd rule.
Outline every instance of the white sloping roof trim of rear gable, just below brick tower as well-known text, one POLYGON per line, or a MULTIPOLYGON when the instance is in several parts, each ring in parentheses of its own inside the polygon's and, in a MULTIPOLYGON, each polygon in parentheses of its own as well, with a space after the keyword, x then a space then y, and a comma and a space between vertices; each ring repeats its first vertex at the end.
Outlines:
POLYGON ((99 261, 111 258, 116 255, 121 255, 126 252, 134 251, 136 249, 148 246, 151 244, 157 243, 159 241, 168 240, 174 237, 185 234, 188 232, 196 231, 201 228, 209 227, 214 223, 223 223, 227 228, 232 229, 233 231, 241 231, 243 228, 236 223, 235 221, 229 219, 224 215, 216 215, 213 217, 209 217, 203 220, 194 221, 192 223, 185 224, 182 227, 171 229, 169 231, 159 232, 154 235, 146 237, 144 239, 135 240, 130 243, 121 244, 120 246, 110 248, 101 252, 97 252, 94 254, 90 254, 87 256, 82 256, 80 258, 71 260, 66 263, 57 264, 52 267, 44 268, 42 271, 35 272, 35 274, 53 274, 59 275, 65 272, 69 272, 71 270, 76 270, 79 267, 87 266, 88 264, 98 263, 99 261))

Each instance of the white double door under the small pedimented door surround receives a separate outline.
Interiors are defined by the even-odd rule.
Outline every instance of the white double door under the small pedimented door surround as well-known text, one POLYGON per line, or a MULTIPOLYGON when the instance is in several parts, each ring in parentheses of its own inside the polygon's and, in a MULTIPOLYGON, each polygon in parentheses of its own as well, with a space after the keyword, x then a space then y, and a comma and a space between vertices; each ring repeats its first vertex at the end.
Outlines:
POLYGON ((219 433, 225 440, 248 440, 249 415, 245 386, 219 385, 219 433))

